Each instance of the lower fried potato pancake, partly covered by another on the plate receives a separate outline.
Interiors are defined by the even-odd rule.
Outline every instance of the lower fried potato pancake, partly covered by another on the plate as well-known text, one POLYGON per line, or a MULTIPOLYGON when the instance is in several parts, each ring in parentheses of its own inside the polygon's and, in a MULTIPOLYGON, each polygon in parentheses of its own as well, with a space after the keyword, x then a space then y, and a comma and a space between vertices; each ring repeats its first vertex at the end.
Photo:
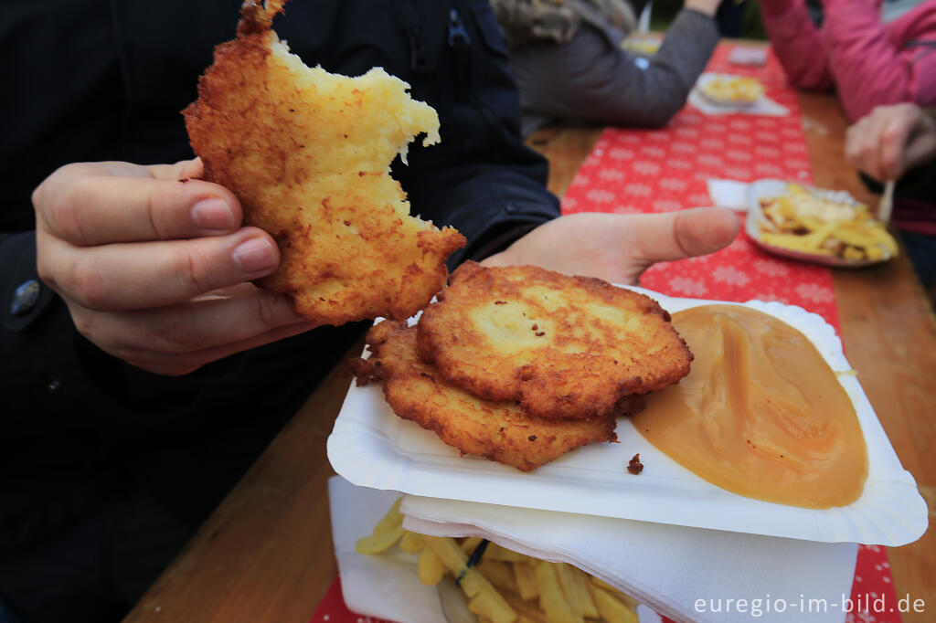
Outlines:
MULTIPOLYGON (((415 326, 385 321, 367 336, 372 355, 355 362, 358 384, 384 385, 393 412, 433 431, 462 454, 479 455, 533 471, 591 442, 613 442, 614 415, 592 420, 550 421, 534 417, 515 402, 476 398, 446 383, 417 355, 415 326)), ((622 403, 621 413, 636 408, 622 403)))

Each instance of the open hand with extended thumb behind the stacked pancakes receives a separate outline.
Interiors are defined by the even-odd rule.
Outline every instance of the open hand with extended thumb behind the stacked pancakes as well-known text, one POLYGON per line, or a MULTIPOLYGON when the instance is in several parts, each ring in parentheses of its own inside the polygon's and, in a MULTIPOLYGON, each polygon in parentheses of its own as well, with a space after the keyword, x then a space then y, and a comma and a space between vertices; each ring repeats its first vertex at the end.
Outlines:
POLYGON ((571 214, 536 227, 485 266, 533 264, 568 275, 636 284, 656 262, 718 251, 740 228, 724 208, 695 208, 663 214, 571 214))

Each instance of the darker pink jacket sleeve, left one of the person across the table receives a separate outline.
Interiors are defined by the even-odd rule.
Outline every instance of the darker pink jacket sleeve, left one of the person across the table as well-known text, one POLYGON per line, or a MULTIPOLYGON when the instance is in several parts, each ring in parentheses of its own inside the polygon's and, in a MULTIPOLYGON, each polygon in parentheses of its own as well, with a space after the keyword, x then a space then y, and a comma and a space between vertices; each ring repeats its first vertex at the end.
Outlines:
POLYGON ((770 44, 790 82, 804 89, 831 88, 826 42, 804 0, 764 0, 761 6, 770 44))

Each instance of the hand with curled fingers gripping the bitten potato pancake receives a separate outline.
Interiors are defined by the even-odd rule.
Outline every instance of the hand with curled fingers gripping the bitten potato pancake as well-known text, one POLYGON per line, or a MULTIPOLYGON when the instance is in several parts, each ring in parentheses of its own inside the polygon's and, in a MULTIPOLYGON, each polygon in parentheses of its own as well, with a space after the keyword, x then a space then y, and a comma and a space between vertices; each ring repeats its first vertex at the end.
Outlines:
POLYGON ((312 328, 285 297, 249 282, 276 243, 241 227, 226 188, 193 180, 200 160, 67 165, 33 193, 39 276, 101 350, 181 375, 312 328))

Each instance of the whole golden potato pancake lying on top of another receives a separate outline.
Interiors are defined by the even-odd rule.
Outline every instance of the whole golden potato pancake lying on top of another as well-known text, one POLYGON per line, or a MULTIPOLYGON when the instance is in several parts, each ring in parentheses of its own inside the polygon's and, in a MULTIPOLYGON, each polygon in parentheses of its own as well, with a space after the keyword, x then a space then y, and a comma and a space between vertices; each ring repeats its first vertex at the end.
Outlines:
POLYGON ((423 312, 419 354, 447 381, 549 419, 604 415, 689 373, 692 353, 656 301, 531 266, 452 273, 423 312))

